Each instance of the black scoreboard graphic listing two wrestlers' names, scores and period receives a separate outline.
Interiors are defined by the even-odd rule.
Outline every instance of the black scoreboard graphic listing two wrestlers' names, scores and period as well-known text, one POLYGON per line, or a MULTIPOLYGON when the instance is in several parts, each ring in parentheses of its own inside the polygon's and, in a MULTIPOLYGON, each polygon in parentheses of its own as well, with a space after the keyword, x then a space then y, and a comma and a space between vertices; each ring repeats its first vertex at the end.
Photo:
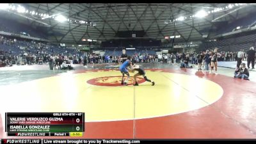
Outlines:
POLYGON ((5 113, 7 136, 83 136, 84 113, 5 113))

